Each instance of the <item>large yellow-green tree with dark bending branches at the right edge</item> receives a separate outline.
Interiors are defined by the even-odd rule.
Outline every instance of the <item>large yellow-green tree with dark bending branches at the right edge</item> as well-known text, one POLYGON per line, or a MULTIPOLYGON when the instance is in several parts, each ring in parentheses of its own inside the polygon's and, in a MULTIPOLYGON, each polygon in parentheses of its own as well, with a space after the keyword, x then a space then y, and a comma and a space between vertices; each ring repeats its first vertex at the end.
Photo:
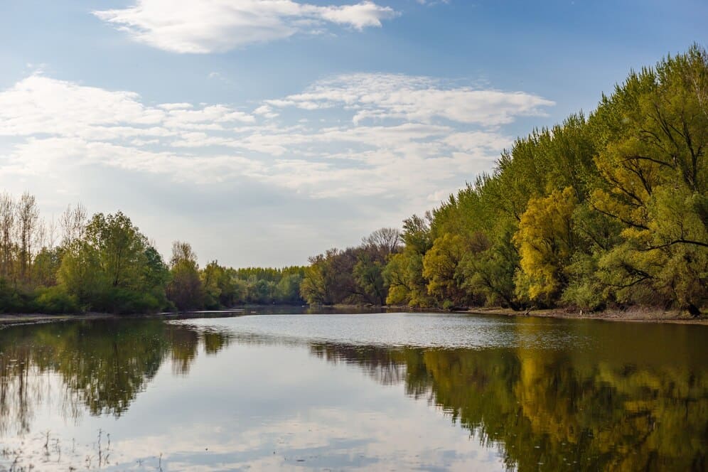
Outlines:
POLYGON ((707 95, 708 55, 694 45, 631 73, 593 117, 604 185, 591 201, 624 227, 601 261, 620 300, 646 291, 695 313, 708 296, 707 95))

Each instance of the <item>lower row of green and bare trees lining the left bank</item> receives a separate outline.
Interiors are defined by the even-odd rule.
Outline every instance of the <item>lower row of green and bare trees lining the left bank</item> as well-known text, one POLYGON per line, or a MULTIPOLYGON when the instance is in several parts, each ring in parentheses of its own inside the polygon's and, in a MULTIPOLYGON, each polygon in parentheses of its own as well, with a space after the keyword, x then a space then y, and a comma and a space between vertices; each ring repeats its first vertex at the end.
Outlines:
POLYGON ((142 313, 239 304, 302 304, 303 267, 202 269, 186 242, 166 264, 123 213, 69 206, 40 218, 33 195, 0 195, 0 312, 142 313))

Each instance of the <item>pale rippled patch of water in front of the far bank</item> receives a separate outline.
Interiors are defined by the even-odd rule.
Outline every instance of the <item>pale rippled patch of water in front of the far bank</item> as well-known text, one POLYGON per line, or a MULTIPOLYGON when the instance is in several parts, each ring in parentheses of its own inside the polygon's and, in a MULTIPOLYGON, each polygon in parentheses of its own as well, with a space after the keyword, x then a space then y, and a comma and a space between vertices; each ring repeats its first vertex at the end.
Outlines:
POLYGON ((249 315, 188 321, 254 343, 345 343, 420 348, 551 348, 588 340, 557 320, 468 313, 249 315))

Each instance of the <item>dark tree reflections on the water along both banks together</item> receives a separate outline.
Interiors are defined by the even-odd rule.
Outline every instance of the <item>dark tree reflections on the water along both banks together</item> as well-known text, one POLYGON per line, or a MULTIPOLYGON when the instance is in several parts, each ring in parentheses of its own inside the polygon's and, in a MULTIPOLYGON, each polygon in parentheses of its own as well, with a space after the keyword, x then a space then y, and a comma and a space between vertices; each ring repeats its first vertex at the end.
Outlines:
MULTIPOLYGON (((120 417, 166 360, 188 375, 200 349, 292 343, 382 385, 404 385, 498 449, 508 468, 706 470, 706 346, 691 327, 638 338, 631 324, 597 326, 572 327, 598 340, 589 348, 478 350, 305 342, 161 320, 16 326, 0 330, 0 437, 31 430, 33 408, 57 395, 48 391, 52 375, 63 385, 65 417, 120 417)), ((544 327, 522 320, 515 329, 532 339, 544 327)))

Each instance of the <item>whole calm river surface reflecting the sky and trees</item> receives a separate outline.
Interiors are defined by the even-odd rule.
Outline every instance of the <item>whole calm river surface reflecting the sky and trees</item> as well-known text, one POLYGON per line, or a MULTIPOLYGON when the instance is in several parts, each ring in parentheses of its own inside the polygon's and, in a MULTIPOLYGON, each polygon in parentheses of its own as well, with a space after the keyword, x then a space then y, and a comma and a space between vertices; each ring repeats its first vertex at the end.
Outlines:
POLYGON ((261 314, 0 329, 0 471, 708 470, 708 326, 261 314))

